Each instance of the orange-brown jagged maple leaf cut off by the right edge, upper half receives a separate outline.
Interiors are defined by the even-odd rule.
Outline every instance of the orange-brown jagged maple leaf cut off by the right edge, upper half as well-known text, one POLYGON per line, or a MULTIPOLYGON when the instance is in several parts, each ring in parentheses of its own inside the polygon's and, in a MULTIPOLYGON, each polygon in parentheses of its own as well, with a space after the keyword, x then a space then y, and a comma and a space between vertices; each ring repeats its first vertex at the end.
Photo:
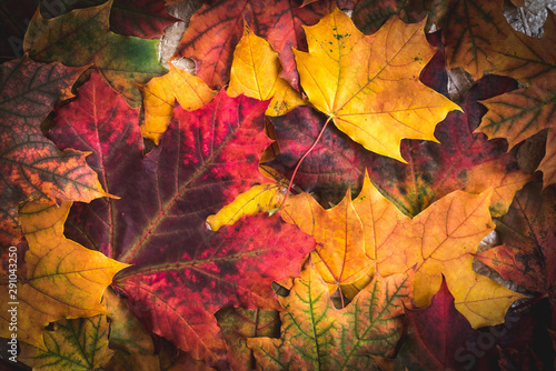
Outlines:
POLYGON ((556 16, 549 12, 542 39, 535 39, 512 30, 512 33, 489 49, 495 72, 527 84, 483 103, 488 113, 477 129, 488 138, 506 138, 513 148, 540 130, 548 130, 546 156, 538 170, 544 173, 545 188, 556 183, 556 157, 554 154, 556 57, 546 46, 556 38, 556 16))

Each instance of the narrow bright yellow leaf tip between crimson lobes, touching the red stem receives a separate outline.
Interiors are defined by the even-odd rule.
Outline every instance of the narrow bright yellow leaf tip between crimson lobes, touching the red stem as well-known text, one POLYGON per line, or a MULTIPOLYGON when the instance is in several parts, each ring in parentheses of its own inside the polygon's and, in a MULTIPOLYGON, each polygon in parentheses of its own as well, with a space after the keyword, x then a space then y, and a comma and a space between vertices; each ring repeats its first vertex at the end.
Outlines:
POLYGON ((279 208, 284 200, 284 188, 276 183, 265 183, 251 187, 220 211, 207 218, 211 231, 218 231, 222 225, 232 225, 244 215, 256 215, 259 212, 279 208))

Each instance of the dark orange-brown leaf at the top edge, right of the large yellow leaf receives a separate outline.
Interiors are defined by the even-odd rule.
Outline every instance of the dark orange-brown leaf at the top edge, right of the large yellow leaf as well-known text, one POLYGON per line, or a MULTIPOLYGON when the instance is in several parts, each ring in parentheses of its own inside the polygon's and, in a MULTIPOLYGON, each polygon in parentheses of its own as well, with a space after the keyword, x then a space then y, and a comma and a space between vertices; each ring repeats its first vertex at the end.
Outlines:
POLYGON ((502 4, 502 0, 457 2, 443 34, 448 68, 463 68, 475 80, 495 69, 489 49, 512 32, 502 4))

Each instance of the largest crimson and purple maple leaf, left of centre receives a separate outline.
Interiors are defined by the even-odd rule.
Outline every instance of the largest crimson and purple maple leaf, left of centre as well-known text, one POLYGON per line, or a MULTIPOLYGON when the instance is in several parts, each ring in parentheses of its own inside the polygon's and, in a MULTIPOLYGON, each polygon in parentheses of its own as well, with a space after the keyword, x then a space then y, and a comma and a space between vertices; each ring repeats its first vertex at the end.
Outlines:
MULTIPOLYGON (((81 89, 95 91, 88 84, 81 89)), ((314 248, 310 237, 277 218, 247 220, 218 233, 206 228, 209 214, 265 181, 257 159, 270 143, 264 133, 268 102, 220 91, 199 110, 177 106, 160 146, 145 159, 139 128, 115 103, 107 109, 116 118, 110 126, 90 118, 60 120, 51 132, 60 147, 93 149, 90 158, 101 164, 107 189, 121 198, 108 200, 108 207, 76 208, 68 235, 132 262, 136 269, 118 275, 113 287, 128 295, 149 330, 224 367, 225 344, 212 313, 228 304, 277 307, 270 282, 298 274, 314 248)), ((79 114, 87 117, 95 107, 75 101, 64 116, 83 110, 79 114)))

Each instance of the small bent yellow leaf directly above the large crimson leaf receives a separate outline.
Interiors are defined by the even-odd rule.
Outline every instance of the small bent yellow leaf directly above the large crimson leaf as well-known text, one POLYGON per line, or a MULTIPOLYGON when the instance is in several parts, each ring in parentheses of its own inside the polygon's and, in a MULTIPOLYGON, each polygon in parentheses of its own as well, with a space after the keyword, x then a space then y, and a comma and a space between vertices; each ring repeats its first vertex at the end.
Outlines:
POLYGON ((156 144, 159 143, 173 116, 176 99, 181 108, 193 111, 210 102, 216 94, 205 81, 171 63, 170 72, 151 79, 138 88, 142 93, 145 106, 145 123, 141 126, 141 131, 143 137, 151 139, 156 144))

